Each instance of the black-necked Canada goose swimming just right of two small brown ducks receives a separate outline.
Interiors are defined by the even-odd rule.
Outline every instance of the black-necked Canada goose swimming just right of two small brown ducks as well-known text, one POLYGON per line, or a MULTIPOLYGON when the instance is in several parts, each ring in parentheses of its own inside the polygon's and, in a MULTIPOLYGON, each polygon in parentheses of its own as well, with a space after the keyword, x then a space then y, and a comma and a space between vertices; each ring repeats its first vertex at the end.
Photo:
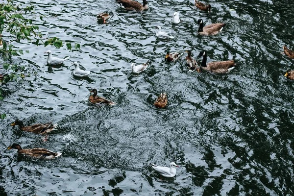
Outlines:
POLYGON ((207 55, 206 51, 202 50, 198 58, 203 56, 202 63, 200 65, 200 68, 202 70, 206 70, 212 73, 228 73, 231 70, 233 70, 236 66, 236 63, 234 60, 229 61, 215 61, 215 62, 209 62, 206 64, 207 55))

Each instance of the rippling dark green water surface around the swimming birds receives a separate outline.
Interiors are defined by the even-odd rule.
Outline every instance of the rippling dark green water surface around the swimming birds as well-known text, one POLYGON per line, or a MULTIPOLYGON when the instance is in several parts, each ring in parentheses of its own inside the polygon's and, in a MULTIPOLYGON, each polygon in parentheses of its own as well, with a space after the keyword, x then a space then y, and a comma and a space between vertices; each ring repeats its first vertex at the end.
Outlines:
POLYGON ((0 110, 7 114, 0 124, 1 195, 294 195, 294 88, 283 76, 293 60, 280 53, 283 45, 294 49, 293 1, 210 1, 211 14, 192 0, 149 0, 143 13, 126 12, 115 0, 30 3, 45 15, 44 21, 36 18, 44 37, 81 49, 16 44, 29 50, 14 62, 30 77, 1 87, 6 96, 0 110), (107 25, 96 20, 104 11, 113 16, 107 25), (180 12, 179 25, 170 23, 174 11, 180 12), (199 18, 227 25, 204 37, 196 33, 199 18), (156 39, 157 25, 175 39, 156 39), (229 74, 190 73, 186 53, 176 63, 164 62, 168 48, 193 49, 193 56, 205 49, 208 62, 236 59, 241 65, 229 74), (47 66, 48 49, 71 55, 90 77, 73 77, 70 61, 47 66), (132 62, 147 59, 146 72, 131 73, 132 62), (92 88, 118 104, 90 105, 92 88), (168 94, 166 109, 153 106, 161 92, 168 94), (12 129, 16 119, 27 125, 53 121, 59 128, 44 143, 39 135, 12 129), (12 143, 63 154, 50 161, 20 159, 5 150, 12 143), (172 179, 149 166, 172 161, 180 166, 172 179))

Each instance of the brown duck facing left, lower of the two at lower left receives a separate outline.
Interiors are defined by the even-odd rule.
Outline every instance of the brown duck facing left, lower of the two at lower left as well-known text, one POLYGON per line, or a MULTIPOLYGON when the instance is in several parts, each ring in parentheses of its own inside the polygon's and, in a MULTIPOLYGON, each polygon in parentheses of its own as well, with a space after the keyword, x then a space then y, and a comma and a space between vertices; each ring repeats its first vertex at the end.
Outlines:
POLYGON ((62 154, 60 152, 53 152, 45 148, 23 149, 19 144, 13 144, 7 149, 9 150, 12 148, 17 149, 18 154, 25 154, 38 159, 52 159, 59 157, 62 154))

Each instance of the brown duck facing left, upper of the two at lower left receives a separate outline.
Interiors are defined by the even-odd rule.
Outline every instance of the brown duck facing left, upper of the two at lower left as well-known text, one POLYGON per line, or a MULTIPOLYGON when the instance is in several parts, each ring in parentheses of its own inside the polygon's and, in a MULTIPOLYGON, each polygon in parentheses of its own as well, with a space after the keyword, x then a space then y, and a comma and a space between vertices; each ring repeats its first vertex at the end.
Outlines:
POLYGON ((52 124, 50 123, 45 123, 45 124, 34 124, 31 126, 24 126, 24 123, 22 121, 15 121, 14 123, 10 124, 11 126, 18 125, 22 131, 27 131, 27 132, 33 132, 36 134, 47 134, 53 130, 56 130, 58 124, 52 124))

